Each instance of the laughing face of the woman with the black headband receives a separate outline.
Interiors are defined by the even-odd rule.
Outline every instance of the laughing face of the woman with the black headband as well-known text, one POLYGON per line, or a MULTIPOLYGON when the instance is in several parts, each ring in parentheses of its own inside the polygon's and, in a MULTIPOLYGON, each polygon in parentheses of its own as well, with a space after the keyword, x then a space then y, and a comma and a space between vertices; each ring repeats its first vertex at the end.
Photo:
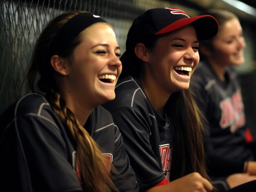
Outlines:
POLYGON ((115 98, 122 69, 120 48, 115 32, 106 23, 93 24, 82 33, 70 64, 70 94, 81 102, 103 104, 115 98))

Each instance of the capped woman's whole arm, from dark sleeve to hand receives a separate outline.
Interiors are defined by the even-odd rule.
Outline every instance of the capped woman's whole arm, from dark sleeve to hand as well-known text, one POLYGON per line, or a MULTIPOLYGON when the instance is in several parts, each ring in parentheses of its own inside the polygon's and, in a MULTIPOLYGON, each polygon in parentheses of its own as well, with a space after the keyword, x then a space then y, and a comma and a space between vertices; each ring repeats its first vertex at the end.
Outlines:
MULTIPOLYGON (((120 110, 124 111, 124 108, 121 108, 120 110)), ((129 108, 128 110, 131 110, 131 108, 129 108)), ((145 128, 144 129, 142 129, 142 127, 139 128, 139 124, 141 124, 142 122, 144 122, 144 126, 147 125, 146 120, 143 119, 142 116, 139 115, 140 113, 138 113, 137 111, 135 112, 130 111, 130 113, 135 113, 137 118, 140 117, 139 118, 140 121, 138 121, 137 119, 138 123, 137 124, 135 123, 137 125, 136 127, 134 127, 135 126, 134 123, 129 124, 130 127, 124 126, 126 123, 128 123, 128 121, 129 122, 136 122, 136 121, 134 121, 135 119, 132 119, 131 117, 127 117, 127 115, 122 116, 120 111, 118 110, 115 111, 115 113, 113 113, 114 114, 113 116, 116 122, 120 124, 120 126, 123 125, 122 129, 125 129, 124 134, 122 132, 122 135, 124 138, 126 138, 126 141, 125 141, 127 142, 125 145, 126 150, 130 155, 129 157, 131 162, 133 162, 133 164, 131 163, 131 165, 132 165, 132 168, 135 170, 135 173, 137 174, 137 181, 139 182, 141 192, 145 192, 145 191, 146 192, 162 192, 162 191, 163 192, 169 192, 169 191, 170 192, 173 192, 173 191, 179 191, 179 192, 207 191, 209 192, 212 190, 211 183, 206 179, 202 178, 202 176, 198 173, 191 173, 189 175, 186 175, 185 177, 182 177, 170 183, 168 183, 166 179, 164 179, 164 177, 160 177, 160 179, 157 180, 158 182, 155 182, 153 181, 153 179, 151 179, 151 183, 148 182, 149 184, 145 187, 146 185, 145 183, 147 183, 147 181, 144 181, 143 179, 145 178, 148 179, 149 177, 147 176, 152 176, 152 174, 150 175, 150 173, 154 171, 154 167, 152 167, 151 164, 149 163, 155 162, 155 165, 158 166, 157 171, 161 169, 159 171, 159 175, 161 174, 163 175, 163 172, 162 172, 162 168, 159 166, 159 163, 157 163, 157 159, 154 159, 154 161, 152 161, 152 157, 150 159, 149 154, 151 153, 151 155, 153 156, 152 154, 153 149, 150 148, 150 150, 148 150, 148 148, 145 148, 144 150, 143 148, 143 146, 145 147, 147 145, 150 145, 150 139, 148 139, 148 141, 146 142, 144 141, 145 135, 146 137, 148 137, 150 135, 150 132, 146 131, 148 129, 145 130, 145 128), (128 119, 125 119, 125 118, 128 118, 128 119), (124 123, 124 121, 126 123, 124 123), (131 132, 133 134, 131 134, 131 132), (139 146, 140 143, 138 143, 138 140, 140 143, 143 143, 141 146, 139 146), (144 167, 145 165, 146 167, 144 167)))

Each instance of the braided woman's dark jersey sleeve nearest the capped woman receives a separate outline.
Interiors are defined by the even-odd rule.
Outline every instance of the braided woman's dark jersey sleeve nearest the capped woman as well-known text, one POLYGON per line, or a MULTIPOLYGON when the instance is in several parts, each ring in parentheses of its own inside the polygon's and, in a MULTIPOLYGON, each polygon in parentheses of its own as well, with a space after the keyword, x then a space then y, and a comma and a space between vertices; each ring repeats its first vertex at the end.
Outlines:
POLYGON ((115 127, 115 154, 113 164, 117 169, 118 175, 115 177, 115 185, 120 192, 139 191, 139 185, 136 181, 135 172, 130 166, 130 160, 124 148, 123 138, 116 125, 115 127))

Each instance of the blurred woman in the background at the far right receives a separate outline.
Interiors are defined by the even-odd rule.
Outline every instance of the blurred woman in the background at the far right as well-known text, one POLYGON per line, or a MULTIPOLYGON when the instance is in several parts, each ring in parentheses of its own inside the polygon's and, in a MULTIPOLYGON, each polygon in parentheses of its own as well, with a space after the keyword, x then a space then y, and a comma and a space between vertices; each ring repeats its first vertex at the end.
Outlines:
POLYGON ((227 182, 220 181, 227 189, 256 179, 256 148, 246 126, 241 89, 232 68, 244 63, 246 44, 236 15, 224 10, 207 14, 216 18, 219 31, 200 42, 200 63, 191 86, 205 117, 202 121, 210 174, 227 182))

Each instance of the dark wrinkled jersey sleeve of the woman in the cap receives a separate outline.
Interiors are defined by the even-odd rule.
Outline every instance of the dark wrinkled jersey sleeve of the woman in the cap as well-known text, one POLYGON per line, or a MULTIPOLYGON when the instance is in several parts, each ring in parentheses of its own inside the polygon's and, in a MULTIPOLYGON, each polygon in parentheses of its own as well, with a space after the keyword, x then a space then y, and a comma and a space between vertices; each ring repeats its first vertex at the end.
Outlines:
POLYGON ((111 113, 123 136, 124 146, 135 171, 139 188, 162 181, 164 179, 162 167, 150 144, 150 122, 132 107, 116 108, 111 110, 111 113))

